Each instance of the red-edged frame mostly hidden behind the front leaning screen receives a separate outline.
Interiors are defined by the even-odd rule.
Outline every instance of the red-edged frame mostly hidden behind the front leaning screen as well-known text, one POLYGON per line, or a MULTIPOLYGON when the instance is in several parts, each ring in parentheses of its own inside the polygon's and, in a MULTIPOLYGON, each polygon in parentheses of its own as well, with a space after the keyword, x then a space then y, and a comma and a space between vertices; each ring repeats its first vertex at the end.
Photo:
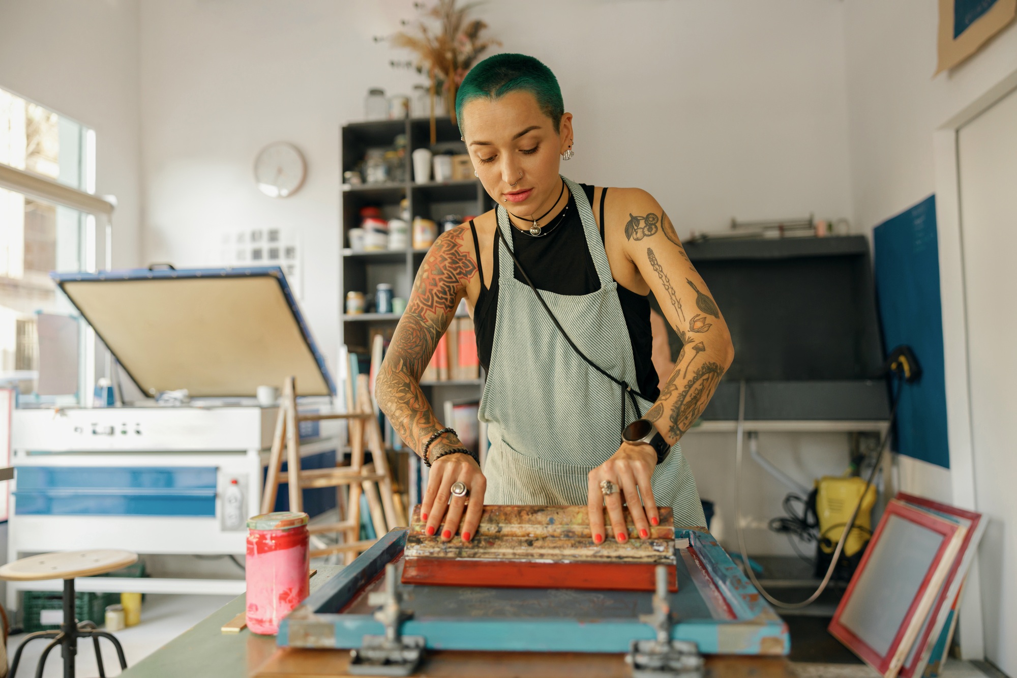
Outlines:
POLYGON ((989 524, 989 521, 982 519, 980 513, 965 511, 956 506, 941 504, 903 492, 897 493, 896 499, 941 518, 954 520, 967 530, 961 542, 957 558, 954 560, 954 565, 943 581, 939 596, 936 597, 933 608, 918 629, 918 636, 911 644, 911 649, 901 666, 900 675, 903 678, 912 678, 912 676, 921 676, 924 673, 925 666, 931 661, 933 647, 950 621, 950 613, 957 606, 964 577, 971 566, 975 551, 978 549, 978 542, 981 541, 981 535, 985 531, 985 525, 989 524))

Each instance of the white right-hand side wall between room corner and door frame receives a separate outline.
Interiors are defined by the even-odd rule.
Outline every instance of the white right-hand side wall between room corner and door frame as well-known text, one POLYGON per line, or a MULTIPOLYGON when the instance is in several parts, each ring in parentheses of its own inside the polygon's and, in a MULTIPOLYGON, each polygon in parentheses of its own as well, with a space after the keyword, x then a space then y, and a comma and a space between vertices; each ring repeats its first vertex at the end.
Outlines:
MULTIPOLYGON (((934 78, 938 20, 925 0, 844 3, 852 212, 866 232, 935 192, 933 131, 1017 66, 1012 24, 934 78)), ((951 501, 949 471, 907 457, 900 469, 902 489, 951 501)))

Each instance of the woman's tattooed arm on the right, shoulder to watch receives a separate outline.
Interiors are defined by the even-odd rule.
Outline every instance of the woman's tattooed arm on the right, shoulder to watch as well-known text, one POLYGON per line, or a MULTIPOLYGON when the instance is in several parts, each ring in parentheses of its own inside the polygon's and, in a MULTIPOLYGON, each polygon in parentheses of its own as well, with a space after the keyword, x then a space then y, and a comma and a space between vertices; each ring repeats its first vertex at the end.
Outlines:
POLYGON ((645 415, 673 444, 706 409, 734 359, 734 347, 724 317, 689 261, 671 220, 646 191, 625 192, 631 195, 627 256, 682 343, 660 397, 645 415))

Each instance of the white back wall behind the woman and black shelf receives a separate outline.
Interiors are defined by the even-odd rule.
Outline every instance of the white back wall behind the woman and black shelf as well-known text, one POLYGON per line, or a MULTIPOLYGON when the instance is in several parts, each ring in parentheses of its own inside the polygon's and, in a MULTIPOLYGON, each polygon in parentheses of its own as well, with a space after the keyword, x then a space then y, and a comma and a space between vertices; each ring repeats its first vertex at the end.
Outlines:
MULTIPOLYGON (((210 231, 224 227, 298 228, 303 307, 332 363, 339 128, 361 118, 368 87, 408 93, 420 81, 387 65, 407 53, 371 40, 414 16, 411 4, 142 0, 145 261, 212 262, 210 231), (282 201, 261 195, 251 176, 258 149, 277 139, 295 143, 309 165, 305 186, 282 201)), ((851 218, 839 2, 520 0, 478 13, 502 50, 533 54, 560 80, 576 116, 569 176, 647 188, 682 233, 724 228, 732 216, 851 218)), ((733 526, 731 466, 716 464, 733 460, 729 439, 690 439, 685 450, 733 526)), ((811 458, 787 461, 803 479, 846 464, 841 437, 798 445, 811 458)), ((770 451, 782 457, 783 446, 770 451)), ((746 481, 747 506, 763 511, 755 517, 779 513, 783 492, 764 497, 746 481)), ((790 553, 765 529, 751 539, 755 553, 790 553)))

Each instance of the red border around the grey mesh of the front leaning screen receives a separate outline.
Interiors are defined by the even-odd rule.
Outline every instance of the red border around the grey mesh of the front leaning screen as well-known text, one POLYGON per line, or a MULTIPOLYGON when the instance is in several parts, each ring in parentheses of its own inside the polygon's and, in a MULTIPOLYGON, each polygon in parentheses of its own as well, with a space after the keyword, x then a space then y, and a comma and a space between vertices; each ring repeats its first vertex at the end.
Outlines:
MULTIPOLYGON (((883 517, 880 519, 880 524, 873 533, 872 541, 865 549, 865 554, 858 563, 858 568, 855 570, 854 576, 851 577, 847 590, 844 591, 844 597, 841 599, 840 605, 837 606, 837 611, 834 613, 833 619, 830 621, 828 627, 830 634, 876 669, 884 678, 894 678, 904 663, 907 652, 910 649, 911 643, 914 642, 921 622, 929 614, 940 586, 954 565, 961 541, 966 532, 967 530, 956 522, 939 518, 932 513, 913 508, 896 499, 891 500, 887 504, 883 517), (870 576, 869 566, 873 554, 880 548, 881 539, 886 531, 887 524, 894 516, 925 527, 942 535, 942 540, 936 549, 928 570, 915 573, 915 576, 920 574, 921 581, 914 594, 914 598, 908 605, 903 622, 894 634, 888 649, 885 654, 881 655, 878 649, 869 645, 851 629, 845 626, 841 618, 851 602, 858 582, 870 576)), ((880 575, 874 572, 872 576, 880 575)))

